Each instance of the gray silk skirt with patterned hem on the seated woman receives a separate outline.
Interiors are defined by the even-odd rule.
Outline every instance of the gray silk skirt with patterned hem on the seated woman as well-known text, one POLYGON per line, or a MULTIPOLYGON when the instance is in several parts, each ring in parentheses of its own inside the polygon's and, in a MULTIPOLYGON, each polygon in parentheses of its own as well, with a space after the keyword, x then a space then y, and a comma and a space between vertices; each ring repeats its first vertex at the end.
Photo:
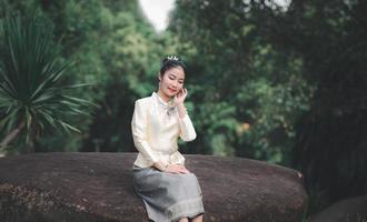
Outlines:
POLYGON ((136 165, 132 172, 135 190, 150 220, 173 222, 204 213, 201 189, 194 173, 175 174, 136 165))

